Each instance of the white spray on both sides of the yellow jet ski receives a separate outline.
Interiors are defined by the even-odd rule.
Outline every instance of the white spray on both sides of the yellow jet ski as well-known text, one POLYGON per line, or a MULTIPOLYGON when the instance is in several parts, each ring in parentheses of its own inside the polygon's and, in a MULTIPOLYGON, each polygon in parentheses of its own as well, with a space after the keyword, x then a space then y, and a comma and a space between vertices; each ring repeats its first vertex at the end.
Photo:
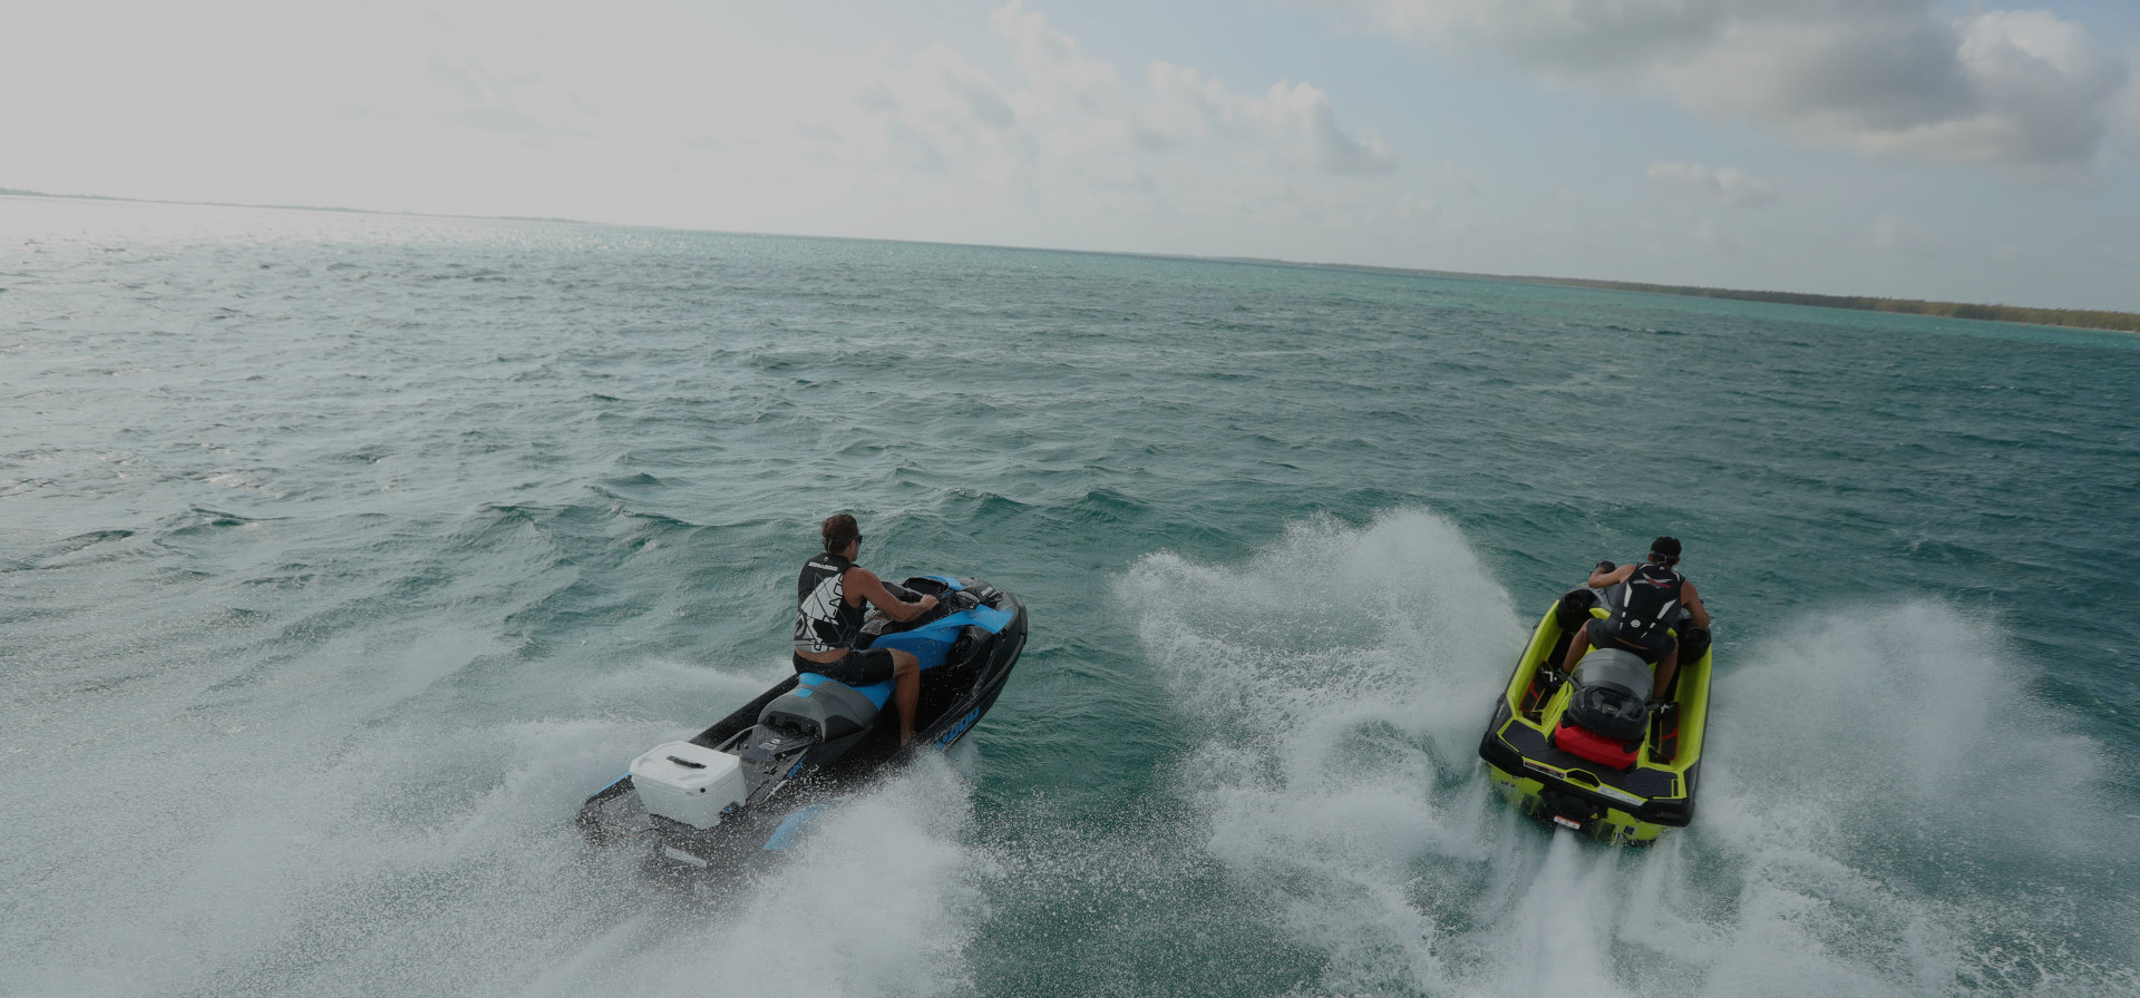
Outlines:
POLYGON ((1175 780, 1205 848, 1323 953, 1316 994, 2136 981, 2097 750, 1992 624, 1930 603, 1721 620, 1695 825, 1622 851, 1487 793, 1477 739, 1528 620, 1444 519, 1297 524, 1241 566, 1158 553, 1124 590, 1205 727, 1175 780))

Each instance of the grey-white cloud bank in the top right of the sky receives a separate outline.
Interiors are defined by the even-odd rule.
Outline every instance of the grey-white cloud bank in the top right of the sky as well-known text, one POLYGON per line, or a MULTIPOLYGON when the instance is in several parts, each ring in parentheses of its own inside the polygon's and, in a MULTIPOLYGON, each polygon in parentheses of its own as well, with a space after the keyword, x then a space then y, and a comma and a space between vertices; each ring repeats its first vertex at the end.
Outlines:
POLYGON ((2048 11, 1947 15, 1935 0, 1329 0, 1457 58, 1569 85, 1661 94, 1872 156, 2080 167, 2123 58, 2048 11))

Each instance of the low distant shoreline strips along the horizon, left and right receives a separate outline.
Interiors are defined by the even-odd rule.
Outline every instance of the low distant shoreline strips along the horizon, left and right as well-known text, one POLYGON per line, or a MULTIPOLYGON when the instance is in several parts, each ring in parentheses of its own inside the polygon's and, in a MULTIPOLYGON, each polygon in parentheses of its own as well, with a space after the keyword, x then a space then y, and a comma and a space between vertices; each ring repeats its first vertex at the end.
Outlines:
MULTIPOLYGON (((47 194, 43 190, 15 190, 0 188, 0 197, 51 197, 71 201, 133 201, 152 205, 203 205, 203 207, 268 207, 287 212, 347 212, 347 214, 368 214, 368 216, 419 216, 419 218, 496 218, 501 222, 571 222, 591 224, 578 218, 533 218, 533 216, 434 216, 426 212, 379 212, 368 207, 319 207, 319 205, 242 205, 231 201, 156 201, 139 197, 109 197, 109 194, 47 194)), ((1064 250, 1079 252, 1079 250, 1064 250)), ((1558 289, 1588 289, 1588 291, 1635 291, 1644 295, 1678 295, 1678 297, 1714 297, 1729 301, 1766 301, 1776 306, 1810 306, 1810 308, 1843 308, 1851 312, 1892 312, 1911 316, 1937 316, 1937 318, 1973 318, 1984 323, 2014 323, 2014 325, 2048 325, 2061 329, 2093 329, 2108 333, 2140 333, 2140 312, 2106 312, 2086 308, 2024 308, 2024 306, 1980 306, 1965 301, 1922 301, 1905 297, 1853 297, 1853 295, 1808 295, 1800 291, 1736 291, 1736 289, 1703 289, 1691 284, 1644 284, 1635 280, 1590 280, 1590 278, 1537 278, 1537 276, 1511 276, 1511 274, 1466 274, 1466 271, 1444 271, 1444 269, 1419 269, 1419 267, 1376 267, 1370 263, 1301 263, 1301 261, 1280 261, 1267 256, 1188 256, 1188 254, 1166 254, 1166 252, 1128 252, 1111 256, 1164 256, 1164 259, 1190 259, 1190 261, 1213 261, 1213 263, 1254 263, 1267 267, 1308 267, 1308 269, 1342 269, 1359 274, 1395 274, 1412 278, 1459 278, 1459 280, 1498 280, 1504 284, 1543 284, 1558 289)))

